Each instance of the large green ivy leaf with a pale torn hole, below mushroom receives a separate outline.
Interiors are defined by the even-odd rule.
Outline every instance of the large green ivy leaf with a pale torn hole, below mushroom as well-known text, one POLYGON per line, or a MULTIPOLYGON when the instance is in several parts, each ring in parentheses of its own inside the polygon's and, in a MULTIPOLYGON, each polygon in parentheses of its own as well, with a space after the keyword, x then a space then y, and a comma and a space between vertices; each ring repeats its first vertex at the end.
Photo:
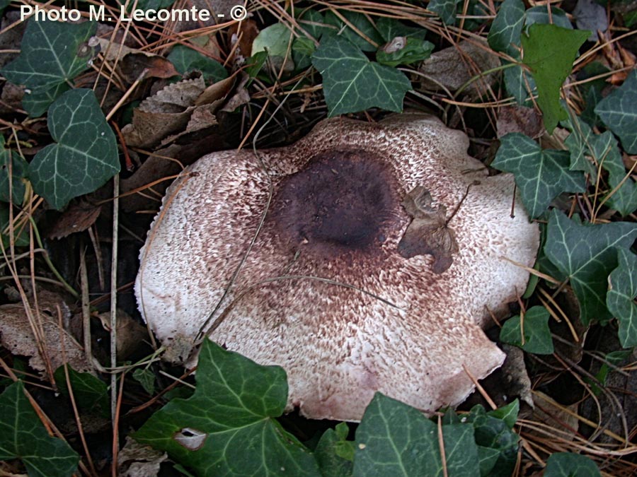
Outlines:
POLYGON ((275 420, 287 404, 285 371, 205 340, 197 387, 173 399, 133 437, 197 475, 319 476, 314 457, 275 420))

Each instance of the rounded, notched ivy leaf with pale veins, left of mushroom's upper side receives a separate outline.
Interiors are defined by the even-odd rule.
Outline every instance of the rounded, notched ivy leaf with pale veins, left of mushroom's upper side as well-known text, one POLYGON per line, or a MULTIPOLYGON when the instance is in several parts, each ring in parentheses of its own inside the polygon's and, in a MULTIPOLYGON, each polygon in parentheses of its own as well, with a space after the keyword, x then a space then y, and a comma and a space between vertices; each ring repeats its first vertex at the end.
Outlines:
POLYGON ((115 134, 92 90, 71 90, 50 107, 47 124, 56 143, 29 165, 33 190, 58 210, 93 192, 120 172, 115 134))

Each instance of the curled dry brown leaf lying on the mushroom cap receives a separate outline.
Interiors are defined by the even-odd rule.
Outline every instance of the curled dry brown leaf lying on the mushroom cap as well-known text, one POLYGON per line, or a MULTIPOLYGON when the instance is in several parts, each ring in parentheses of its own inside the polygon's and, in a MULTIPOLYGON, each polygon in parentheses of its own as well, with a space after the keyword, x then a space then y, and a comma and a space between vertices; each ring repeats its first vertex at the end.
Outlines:
POLYGON ((409 192, 402 205, 413 220, 398 243, 398 253, 407 259, 431 255, 433 271, 444 272, 454 261, 452 255, 458 252, 456 234, 447 226, 447 208, 442 204, 433 208, 431 194, 423 186, 409 192))

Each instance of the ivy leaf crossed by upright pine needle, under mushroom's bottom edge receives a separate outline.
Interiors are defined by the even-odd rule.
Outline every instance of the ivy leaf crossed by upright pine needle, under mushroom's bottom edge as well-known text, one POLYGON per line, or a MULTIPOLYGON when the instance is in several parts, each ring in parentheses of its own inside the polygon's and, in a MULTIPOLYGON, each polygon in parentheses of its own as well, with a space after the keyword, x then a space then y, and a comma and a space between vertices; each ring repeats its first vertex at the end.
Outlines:
MULTIPOLYGON (((477 476, 474 429, 444 425, 447 471, 477 476)), ((435 476, 442 472, 437 427, 420 411, 377 393, 356 431, 354 476, 435 476)))

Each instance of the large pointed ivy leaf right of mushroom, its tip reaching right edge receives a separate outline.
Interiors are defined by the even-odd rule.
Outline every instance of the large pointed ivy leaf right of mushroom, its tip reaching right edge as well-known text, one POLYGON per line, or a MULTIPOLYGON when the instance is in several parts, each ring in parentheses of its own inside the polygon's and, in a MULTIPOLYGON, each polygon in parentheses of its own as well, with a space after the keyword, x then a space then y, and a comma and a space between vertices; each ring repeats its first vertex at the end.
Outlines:
POLYGON ((611 318, 606 307, 607 277, 617 266, 615 247, 628 248, 637 237, 637 225, 628 222, 581 225, 553 210, 544 254, 568 278, 580 302, 582 322, 611 318))

